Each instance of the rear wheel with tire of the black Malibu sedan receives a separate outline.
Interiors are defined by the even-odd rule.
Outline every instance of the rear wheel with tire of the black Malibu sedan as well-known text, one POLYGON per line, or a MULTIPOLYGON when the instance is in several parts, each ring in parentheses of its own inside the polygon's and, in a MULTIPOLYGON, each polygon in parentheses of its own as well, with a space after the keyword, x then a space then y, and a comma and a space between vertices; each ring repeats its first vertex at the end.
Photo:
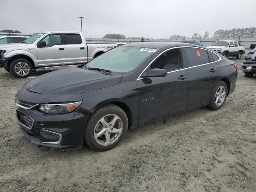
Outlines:
POLYGON ((223 106, 223 104, 225 103, 227 96, 228 96, 228 87, 227 87, 226 83, 224 81, 218 82, 212 91, 212 96, 211 96, 211 100, 210 100, 208 107, 212 110, 220 109, 223 106), (225 93, 222 92, 222 94, 224 94, 224 95, 220 96, 221 102, 220 102, 220 100, 217 100, 217 102, 216 102, 216 99, 217 99, 216 97, 218 96, 217 91, 220 92, 221 88, 222 88, 222 91, 224 89, 225 93), (223 96, 224 96, 224 98, 223 98, 223 96))

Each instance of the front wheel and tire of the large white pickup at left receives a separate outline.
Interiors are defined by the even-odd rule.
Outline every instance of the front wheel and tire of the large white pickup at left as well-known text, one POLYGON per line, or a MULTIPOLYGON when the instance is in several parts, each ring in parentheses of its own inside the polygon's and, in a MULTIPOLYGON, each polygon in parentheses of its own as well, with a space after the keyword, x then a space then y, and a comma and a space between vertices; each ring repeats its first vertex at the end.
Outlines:
POLYGON ((32 64, 23 58, 15 59, 10 64, 10 72, 17 78, 25 78, 30 76, 32 70, 32 64))

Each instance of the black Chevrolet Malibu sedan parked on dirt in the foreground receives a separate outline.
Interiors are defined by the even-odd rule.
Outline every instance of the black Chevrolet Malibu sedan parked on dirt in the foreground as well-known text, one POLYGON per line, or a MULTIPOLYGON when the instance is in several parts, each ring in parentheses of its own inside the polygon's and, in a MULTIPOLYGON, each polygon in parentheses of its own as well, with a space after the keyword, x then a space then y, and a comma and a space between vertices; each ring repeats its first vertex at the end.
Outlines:
POLYGON ((221 108, 236 86, 237 66, 201 46, 143 42, 90 62, 44 74, 16 97, 19 130, 50 148, 116 146, 128 128, 180 111, 221 108))

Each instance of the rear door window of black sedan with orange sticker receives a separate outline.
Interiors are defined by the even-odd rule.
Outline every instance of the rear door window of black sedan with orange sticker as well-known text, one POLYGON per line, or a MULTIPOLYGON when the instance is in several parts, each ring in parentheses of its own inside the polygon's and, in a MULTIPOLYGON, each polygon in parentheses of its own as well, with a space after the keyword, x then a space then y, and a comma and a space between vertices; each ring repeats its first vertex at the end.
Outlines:
POLYGON ((188 47, 185 48, 185 50, 190 67, 209 63, 209 57, 206 50, 188 47))

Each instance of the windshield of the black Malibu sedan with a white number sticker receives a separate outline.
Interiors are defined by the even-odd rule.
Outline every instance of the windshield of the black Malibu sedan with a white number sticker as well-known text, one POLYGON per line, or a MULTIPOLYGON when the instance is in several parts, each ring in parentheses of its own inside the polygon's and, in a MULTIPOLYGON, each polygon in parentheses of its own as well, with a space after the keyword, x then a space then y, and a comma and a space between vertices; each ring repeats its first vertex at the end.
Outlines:
POLYGON ((141 47, 117 47, 91 60, 86 67, 126 73, 134 70, 156 51, 141 47))

